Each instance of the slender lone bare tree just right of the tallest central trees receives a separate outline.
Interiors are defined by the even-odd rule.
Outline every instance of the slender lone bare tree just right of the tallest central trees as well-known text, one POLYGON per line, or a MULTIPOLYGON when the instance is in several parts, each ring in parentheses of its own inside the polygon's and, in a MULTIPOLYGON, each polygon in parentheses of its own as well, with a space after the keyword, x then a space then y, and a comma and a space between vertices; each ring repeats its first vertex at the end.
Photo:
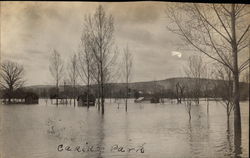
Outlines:
POLYGON ((129 47, 127 45, 123 50, 123 76, 125 78, 126 83, 126 96, 125 96, 125 110, 128 110, 128 93, 129 93, 129 82, 132 77, 132 66, 133 66, 133 56, 129 51, 129 47))

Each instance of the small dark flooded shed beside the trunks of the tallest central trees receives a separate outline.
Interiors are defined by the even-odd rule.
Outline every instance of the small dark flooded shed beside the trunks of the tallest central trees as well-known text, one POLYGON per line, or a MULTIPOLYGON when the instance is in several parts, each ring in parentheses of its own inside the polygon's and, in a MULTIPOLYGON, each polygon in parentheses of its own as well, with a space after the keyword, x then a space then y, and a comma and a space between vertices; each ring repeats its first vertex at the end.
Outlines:
POLYGON ((93 94, 87 95, 87 93, 84 93, 77 97, 78 106, 87 106, 88 102, 89 106, 95 106, 95 100, 96 98, 93 94))

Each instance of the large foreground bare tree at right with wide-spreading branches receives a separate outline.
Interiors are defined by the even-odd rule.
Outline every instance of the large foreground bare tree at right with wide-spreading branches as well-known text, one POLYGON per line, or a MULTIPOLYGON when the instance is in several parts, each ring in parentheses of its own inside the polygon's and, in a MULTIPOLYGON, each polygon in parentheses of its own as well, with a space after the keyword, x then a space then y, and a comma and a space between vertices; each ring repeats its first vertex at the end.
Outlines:
POLYGON ((248 57, 239 63, 239 56, 247 53, 249 47, 249 7, 246 4, 184 4, 166 9, 169 30, 232 72, 236 133, 241 133, 239 75, 250 60, 248 57))

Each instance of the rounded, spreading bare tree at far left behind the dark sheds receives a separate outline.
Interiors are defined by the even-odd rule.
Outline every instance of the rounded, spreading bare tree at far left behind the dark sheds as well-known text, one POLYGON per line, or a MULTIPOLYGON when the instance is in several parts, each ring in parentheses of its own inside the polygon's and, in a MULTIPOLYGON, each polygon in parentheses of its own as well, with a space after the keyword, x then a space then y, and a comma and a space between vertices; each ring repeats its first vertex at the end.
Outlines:
POLYGON ((22 65, 12 61, 4 61, 1 64, 0 87, 7 91, 9 103, 13 91, 23 86, 23 75, 24 69, 22 65))

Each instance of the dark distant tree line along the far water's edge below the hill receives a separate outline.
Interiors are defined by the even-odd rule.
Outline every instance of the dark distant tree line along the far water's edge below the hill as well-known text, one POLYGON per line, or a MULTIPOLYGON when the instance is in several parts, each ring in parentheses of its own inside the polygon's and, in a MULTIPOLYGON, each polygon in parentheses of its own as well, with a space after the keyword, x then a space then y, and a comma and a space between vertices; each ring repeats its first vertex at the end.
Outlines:
MULTIPOLYGON (((225 84, 230 84, 230 81, 224 80, 209 80, 209 79, 201 79, 201 89, 199 93, 199 98, 218 98, 218 99, 225 99, 228 96, 228 87, 225 84), (210 87, 206 90, 206 86, 203 83, 209 82, 210 87)), ((174 85, 174 84, 173 84, 174 85)), ((185 78, 183 81, 176 81, 175 85, 182 85, 188 89, 192 89, 192 86, 195 85, 195 79, 192 78, 185 78), (184 81, 186 81, 184 83, 184 81)), ((248 92, 249 83, 240 82, 240 92, 241 92, 241 100, 247 100, 249 97, 248 92)), ((132 87, 132 86, 129 86, 132 87)), ((50 98, 51 96, 57 94, 56 87, 46 87, 46 88, 23 88, 29 89, 36 93, 40 98, 50 98)), ((61 95, 64 95, 67 98, 73 99, 73 85, 65 85, 60 86, 61 95)), ((90 85, 91 92, 97 96, 98 95, 98 85, 90 85)), ((87 86, 76 86, 75 88, 75 95, 78 96, 82 94, 82 92, 87 90, 87 86)), ((105 86, 105 95, 104 98, 126 98, 126 85, 122 83, 109 83, 105 86)), ((136 89, 136 88, 129 88, 128 89, 128 98, 139 98, 139 97, 152 97, 158 96, 160 98, 168 98, 168 99, 176 99, 176 102, 180 98, 192 98, 193 94, 190 92, 184 92, 182 96, 180 96, 180 92, 176 92, 176 88, 172 86, 172 88, 164 88, 163 86, 158 86, 157 89, 153 92, 152 88, 143 88, 143 89, 136 89)))

